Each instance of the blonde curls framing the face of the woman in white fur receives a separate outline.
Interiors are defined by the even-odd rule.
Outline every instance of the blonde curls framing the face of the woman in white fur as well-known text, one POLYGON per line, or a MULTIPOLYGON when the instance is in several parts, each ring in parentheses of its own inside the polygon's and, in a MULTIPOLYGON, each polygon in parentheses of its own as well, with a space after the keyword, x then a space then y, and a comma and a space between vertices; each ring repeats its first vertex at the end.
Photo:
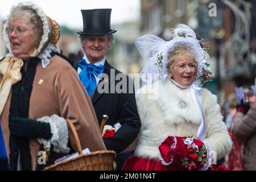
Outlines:
POLYGON ((174 63, 179 57, 187 57, 188 59, 194 60, 195 68, 197 71, 197 63, 193 53, 189 51, 187 47, 181 46, 176 47, 174 51, 171 51, 170 54, 168 55, 167 72, 169 73, 170 76, 172 76, 174 73, 174 63))

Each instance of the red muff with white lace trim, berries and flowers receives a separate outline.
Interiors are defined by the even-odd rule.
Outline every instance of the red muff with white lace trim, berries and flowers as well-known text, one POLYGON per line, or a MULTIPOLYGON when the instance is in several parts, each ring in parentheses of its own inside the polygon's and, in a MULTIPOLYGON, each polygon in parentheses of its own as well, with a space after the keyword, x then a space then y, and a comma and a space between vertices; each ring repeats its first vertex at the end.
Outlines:
POLYGON ((192 137, 167 137, 158 147, 160 160, 177 170, 207 170, 212 156, 209 148, 192 137))

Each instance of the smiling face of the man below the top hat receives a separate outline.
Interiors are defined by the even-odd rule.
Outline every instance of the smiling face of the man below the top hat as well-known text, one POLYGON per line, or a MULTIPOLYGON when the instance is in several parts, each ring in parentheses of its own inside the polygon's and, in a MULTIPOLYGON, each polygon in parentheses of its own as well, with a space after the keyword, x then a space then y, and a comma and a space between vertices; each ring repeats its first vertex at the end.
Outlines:
POLYGON ((82 42, 85 55, 90 63, 100 61, 108 52, 109 38, 108 35, 86 35, 82 42))

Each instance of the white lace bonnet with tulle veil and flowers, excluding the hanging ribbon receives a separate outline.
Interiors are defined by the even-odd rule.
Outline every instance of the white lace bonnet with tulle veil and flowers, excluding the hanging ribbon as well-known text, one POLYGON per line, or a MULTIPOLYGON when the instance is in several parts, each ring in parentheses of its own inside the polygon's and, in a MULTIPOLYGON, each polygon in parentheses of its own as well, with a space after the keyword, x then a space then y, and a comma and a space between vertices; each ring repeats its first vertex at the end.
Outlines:
MULTIPOLYGON (((140 76, 148 73, 159 73, 159 78, 164 82, 167 73, 168 55, 176 47, 185 46, 194 55, 197 62, 196 86, 202 86, 204 82, 211 80, 214 76, 209 68, 210 57, 204 48, 200 46, 195 32, 185 24, 179 24, 172 30, 172 39, 168 42, 155 35, 144 35, 137 39, 135 46, 147 60, 140 76)), ((154 81, 154 80, 153 80, 154 81)))

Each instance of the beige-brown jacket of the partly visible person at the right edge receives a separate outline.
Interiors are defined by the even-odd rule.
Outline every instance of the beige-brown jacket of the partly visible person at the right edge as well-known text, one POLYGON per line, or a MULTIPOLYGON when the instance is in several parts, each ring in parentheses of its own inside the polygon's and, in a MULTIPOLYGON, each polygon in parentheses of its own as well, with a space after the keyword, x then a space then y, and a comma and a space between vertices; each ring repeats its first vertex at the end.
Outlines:
POLYGON ((234 117, 234 133, 238 138, 245 139, 243 155, 244 170, 256 170, 256 102, 246 115, 238 112, 234 117))

